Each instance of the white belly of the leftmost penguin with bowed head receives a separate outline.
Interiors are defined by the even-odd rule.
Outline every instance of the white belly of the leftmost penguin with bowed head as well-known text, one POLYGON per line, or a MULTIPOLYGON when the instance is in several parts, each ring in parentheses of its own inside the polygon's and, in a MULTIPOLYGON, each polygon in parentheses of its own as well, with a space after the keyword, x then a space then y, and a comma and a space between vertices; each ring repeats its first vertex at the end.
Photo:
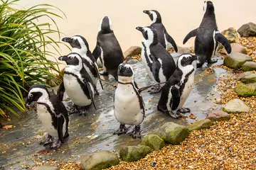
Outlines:
POLYGON ((45 128, 46 132, 53 137, 58 137, 58 131, 53 127, 53 120, 50 113, 47 111, 46 106, 37 104, 37 113, 38 118, 41 120, 43 127, 45 128))

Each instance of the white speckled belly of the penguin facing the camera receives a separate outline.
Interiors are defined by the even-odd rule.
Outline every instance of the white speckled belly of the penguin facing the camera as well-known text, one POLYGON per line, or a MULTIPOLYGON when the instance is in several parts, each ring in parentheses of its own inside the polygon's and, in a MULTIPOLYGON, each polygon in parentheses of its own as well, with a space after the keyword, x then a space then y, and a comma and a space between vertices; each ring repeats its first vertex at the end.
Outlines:
POLYGON ((144 115, 139 106, 139 98, 131 84, 118 84, 114 94, 114 116, 121 124, 142 123, 144 115))

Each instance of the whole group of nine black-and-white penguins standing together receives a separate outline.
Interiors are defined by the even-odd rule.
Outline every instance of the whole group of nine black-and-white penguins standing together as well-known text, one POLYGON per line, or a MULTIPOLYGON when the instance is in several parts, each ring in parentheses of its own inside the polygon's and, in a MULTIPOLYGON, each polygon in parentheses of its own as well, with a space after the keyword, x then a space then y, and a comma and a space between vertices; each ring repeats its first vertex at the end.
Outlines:
POLYGON ((64 138, 68 137, 69 114, 63 104, 63 96, 68 96, 73 101, 71 113, 86 115, 91 105, 95 108, 93 98, 99 95, 96 85, 100 81, 110 84, 100 78, 102 75, 112 75, 118 81, 114 93, 114 116, 120 123, 119 129, 114 134, 120 135, 127 132, 125 125, 135 125, 132 137, 141 137, 140 125, 145 117, 144 101, 141 92, 151 87, 150 93, 161 91, 157 109, 169 113, 173 118, 181 117, 178 113, 189 113, 188 108, 182 108, 191 92, 195 69, 192 62, 196 60, 197 67, 202 67, 206 62, 213 62, 220 42, 225 50, 230 53, 231 47, 228 40, 218 31, 215 21, 214 6, 211 1, 205 1, 203 6, 204 16, 201 25, 192 30, 183 40, 186 41, 196 36, 195 53, 182 54, 174 62, 167 51, 170 42, 177 52, 178 48, 173 38, 167 33, 158 11, 143 11, 151 19, 151 25, 137 27, 143 35, 142 62, 146 72, 154 81, 153 86, 140 88, 134 81, 134 71, 130 64, 124 62, 122 49, 112 30, 112 21, 105 16, 100 21, 97 35, 97 45, 90 52, 87 40, 80 35, 72 38, 63 38, 72 47, 72 52, 58 59, 66 62, 63 82, 57 94, 46 89, 46 86, 35 84, 28 89, 26 106, 33 101, 37 103, 38 117, 48 132, 48 137, 43 145, 50 145, 51 149, 59 148, 64 138), (97 59, 102 62, 102 72, 97 67, 97 59), (55 137, 55 139, 54 139, 55 137))

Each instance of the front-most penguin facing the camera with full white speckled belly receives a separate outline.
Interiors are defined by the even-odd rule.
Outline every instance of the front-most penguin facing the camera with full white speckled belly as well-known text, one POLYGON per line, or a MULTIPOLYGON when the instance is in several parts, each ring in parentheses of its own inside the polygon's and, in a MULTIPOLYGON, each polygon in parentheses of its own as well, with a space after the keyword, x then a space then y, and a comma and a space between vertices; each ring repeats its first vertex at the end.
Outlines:
POLYGON ((141 137, 140 124, 144 115, 144 101, 134 81, 132 66, 124 62, 118 67, 118 84, 114 93, 114 116, 120 123, 114 134, 126 133, 125 125, 135 125, 132 137, 141 137))

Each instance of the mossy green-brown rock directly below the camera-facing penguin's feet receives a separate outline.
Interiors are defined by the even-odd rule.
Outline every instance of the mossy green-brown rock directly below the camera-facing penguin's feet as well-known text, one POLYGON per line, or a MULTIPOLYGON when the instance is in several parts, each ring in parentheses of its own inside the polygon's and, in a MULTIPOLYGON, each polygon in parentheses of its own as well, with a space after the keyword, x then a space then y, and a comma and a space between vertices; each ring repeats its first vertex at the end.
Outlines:
POLYGON ((120 159, 122 159, 125 162, 135 162, 139 159, 142 159, 146 157, 146 154, 149 154, 151 152, 151 148, 144 145, 138 145, 138 146, 128 146, 123 147, 120 150, 120 159))

